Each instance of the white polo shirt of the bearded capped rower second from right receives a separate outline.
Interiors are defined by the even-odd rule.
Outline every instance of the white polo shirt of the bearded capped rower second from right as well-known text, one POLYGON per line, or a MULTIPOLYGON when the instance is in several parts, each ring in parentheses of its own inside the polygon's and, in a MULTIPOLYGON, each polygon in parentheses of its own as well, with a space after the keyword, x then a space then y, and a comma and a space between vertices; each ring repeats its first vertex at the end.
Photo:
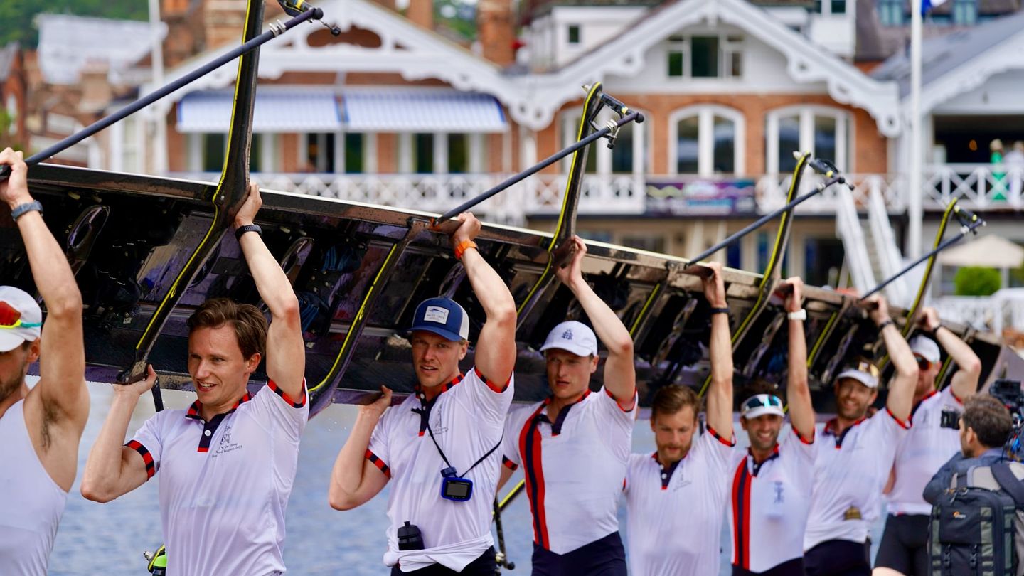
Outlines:
POLYGON ((896 446, 909 422, 888 408, 837 436, 835 420, 818 435, 814 492, 804 534, 804 550, 827 540, 865 542, 882 508, 882 489, 889 480, 896 446))

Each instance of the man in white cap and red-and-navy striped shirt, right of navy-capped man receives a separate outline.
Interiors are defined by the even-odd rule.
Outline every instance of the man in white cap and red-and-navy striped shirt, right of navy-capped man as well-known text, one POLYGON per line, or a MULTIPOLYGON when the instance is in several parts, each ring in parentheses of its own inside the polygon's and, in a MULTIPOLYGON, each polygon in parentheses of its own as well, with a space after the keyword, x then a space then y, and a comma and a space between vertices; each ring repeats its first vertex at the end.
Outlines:
POLYGON ((498 486, 523 466, 535 576, 626 576, 616 511, 636 416, 633 339, 583 278, 587 245, 579 237, 572 245, 570 262, 556 274, 594 329, 568 321, 548 333, 541 352, 551 396, 509 413, 498 486), (591 393, 597 338, 608 358, 603 389, 591 393))

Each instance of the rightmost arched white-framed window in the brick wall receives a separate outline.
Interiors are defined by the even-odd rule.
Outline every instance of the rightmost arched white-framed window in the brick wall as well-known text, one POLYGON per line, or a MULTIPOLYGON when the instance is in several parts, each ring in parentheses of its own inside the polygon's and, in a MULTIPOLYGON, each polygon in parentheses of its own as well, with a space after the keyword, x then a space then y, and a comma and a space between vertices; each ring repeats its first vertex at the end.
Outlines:
POLYGON ((773 110, 765 117, 766 172, 792 171, 797 165, 794 152, 810 152, 840 170, 852 171, 851 141, 853 122, 845 110, 824 106, 773 110))

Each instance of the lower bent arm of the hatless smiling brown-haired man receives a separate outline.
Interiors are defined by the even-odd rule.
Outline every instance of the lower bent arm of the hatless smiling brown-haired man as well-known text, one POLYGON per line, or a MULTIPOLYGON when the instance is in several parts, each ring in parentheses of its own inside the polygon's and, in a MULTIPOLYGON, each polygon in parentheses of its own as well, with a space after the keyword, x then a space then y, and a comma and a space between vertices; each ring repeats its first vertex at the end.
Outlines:
MULTIPOLYGON (((146 367, 146 378, 132 384, 114 384, 114 402, 103 427, 89 450, 82 475, 82 496, 94 502, 110 502, 141 486, 150 478, 142 456, 124 446, 128 422, 138 398, 153 388, 157 375, 146 367)), ((150 447, 153 448, 153 447, 150 447)))

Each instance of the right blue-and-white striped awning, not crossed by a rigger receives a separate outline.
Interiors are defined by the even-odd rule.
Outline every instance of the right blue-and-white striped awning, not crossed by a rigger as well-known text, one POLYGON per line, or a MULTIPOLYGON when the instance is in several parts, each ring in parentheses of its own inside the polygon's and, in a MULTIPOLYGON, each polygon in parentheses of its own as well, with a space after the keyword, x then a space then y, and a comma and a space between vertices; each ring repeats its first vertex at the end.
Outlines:
POLYGON ((436 88, 351 89, 342 94, 351 132, 504 132, 505 112, 488 94, 436 88))

